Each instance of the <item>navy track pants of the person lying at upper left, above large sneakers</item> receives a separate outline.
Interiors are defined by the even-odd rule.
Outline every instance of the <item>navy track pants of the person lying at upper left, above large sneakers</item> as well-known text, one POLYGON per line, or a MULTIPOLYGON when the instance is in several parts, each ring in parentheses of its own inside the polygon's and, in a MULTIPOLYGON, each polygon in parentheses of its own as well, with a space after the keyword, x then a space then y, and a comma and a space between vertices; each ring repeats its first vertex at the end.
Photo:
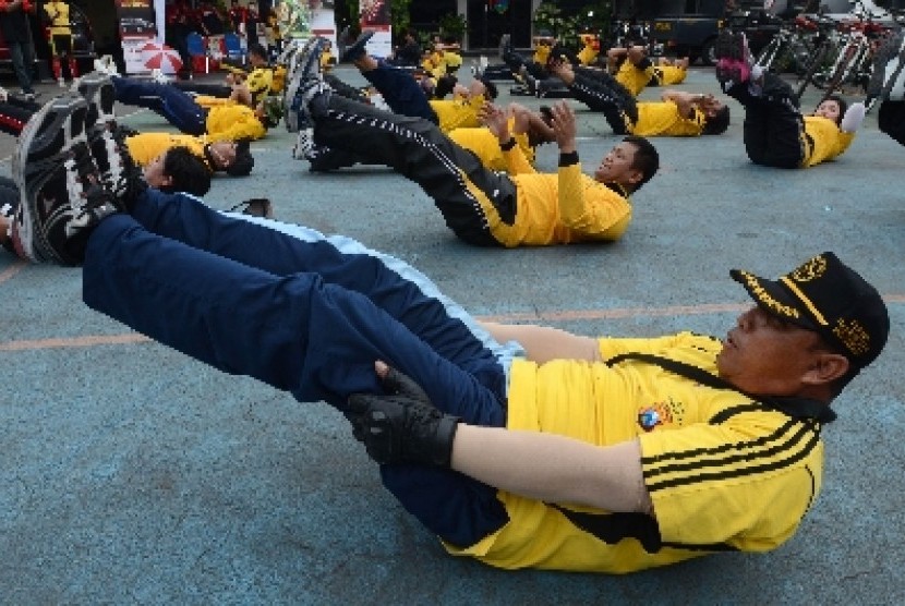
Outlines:
POLYGON ((121 104, 149 109, 186 135, 207 132, 207 111, 188 93, 158 82, 120 76, 111 80, 121 104))

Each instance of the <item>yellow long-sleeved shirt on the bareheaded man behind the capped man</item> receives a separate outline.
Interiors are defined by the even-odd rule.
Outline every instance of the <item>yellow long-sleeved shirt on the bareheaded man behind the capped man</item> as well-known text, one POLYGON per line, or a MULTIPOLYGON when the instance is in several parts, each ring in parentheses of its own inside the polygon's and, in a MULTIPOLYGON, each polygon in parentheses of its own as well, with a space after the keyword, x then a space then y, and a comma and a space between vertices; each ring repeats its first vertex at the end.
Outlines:
POLYGON ((541 173, 518 145, 503 156, 518 196, 512 225, 503 221, 486 196, 475 196, 483 220, 503 246, 613 241, 625 233, 631 221, 628 196, 582 173, 580 163, 541 173))

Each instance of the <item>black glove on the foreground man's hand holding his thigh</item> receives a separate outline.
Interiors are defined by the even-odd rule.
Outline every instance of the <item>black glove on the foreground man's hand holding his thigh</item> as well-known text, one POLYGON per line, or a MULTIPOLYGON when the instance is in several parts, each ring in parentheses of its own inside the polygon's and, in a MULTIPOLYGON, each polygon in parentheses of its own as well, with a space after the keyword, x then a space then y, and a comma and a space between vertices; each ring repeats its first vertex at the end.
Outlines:
POLYGON ((434 408, 424 390, 390 368, 383 379, 386 396, 353 393, 349 419, 367 456, 384 463, 449 466, 459 417, 434 408))

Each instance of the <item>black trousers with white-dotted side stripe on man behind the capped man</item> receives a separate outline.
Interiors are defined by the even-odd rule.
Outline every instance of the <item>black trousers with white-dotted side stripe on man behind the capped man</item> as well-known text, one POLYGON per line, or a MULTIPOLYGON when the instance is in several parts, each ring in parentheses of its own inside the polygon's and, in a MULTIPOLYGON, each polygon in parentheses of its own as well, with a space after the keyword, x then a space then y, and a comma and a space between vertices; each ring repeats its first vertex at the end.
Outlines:
POLYGON ((393 168, 434 199, 460 239, 479 246, 500 245, 490 231, 481 196, 511 225, 517 192, 505 173, 484 168, 474 154, 422 118, 397 116, 335 94, 318 96, 310 107, 315 144, 355 152, 369 163, 393 168))

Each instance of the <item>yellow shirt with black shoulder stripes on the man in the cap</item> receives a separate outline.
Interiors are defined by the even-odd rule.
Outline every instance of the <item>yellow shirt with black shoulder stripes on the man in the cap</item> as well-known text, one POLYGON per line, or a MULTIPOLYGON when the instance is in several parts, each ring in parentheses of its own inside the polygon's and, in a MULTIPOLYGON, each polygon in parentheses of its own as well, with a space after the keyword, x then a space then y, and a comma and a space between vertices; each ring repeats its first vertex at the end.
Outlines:
MULTIPOLYGON (((721 348, 690 332, 599 344, 603 360, 653 353, 714 374, 721 348)), ((599 446, 638 439, 655 518, 500 490, 506 525, 467 548, 446 546, 500 568, 624 573, 773 549, 795 533, 822 482, 823 444, 812 423, 640 361, 516 361, 507 427, 599 446)))

